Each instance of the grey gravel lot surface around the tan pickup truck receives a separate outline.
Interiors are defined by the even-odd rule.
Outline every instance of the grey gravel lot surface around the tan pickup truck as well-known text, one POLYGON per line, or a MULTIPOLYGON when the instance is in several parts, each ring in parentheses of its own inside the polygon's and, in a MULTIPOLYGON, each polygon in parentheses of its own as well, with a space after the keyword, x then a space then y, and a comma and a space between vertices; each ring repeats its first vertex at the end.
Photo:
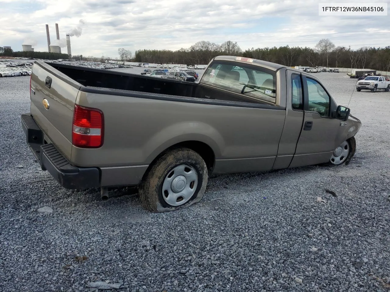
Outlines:
POLYGON ((131 189, 61 188, 25 144, 29 77, 0 78, 0 291, 390 291, 390 93, 318 75, 339 104, 353 92, 349 165, 211 178, 200 203, 160 214, 131 189))

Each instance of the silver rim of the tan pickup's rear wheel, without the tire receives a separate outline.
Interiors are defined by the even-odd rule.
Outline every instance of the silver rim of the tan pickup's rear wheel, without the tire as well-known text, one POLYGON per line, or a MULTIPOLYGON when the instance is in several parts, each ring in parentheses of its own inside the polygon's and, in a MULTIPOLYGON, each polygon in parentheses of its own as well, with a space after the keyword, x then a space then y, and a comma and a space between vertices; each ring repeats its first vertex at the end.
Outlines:
POLYGON ((172 169, 163 181, 164 201, 171 206, 180 206, 188 202, 198 186, 198 174, 189 165, 178 165, 172 169))

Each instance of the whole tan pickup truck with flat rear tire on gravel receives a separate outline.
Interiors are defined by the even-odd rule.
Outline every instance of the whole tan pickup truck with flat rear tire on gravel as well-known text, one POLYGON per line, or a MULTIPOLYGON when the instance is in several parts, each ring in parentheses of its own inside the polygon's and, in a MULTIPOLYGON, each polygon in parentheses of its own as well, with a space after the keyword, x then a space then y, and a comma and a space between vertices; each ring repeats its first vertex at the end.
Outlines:
POLYGON ((361 122, 318 78, 218 56, 198 83, 34 64, 27 144, 65 188, 139 186, 160 212, 202 198, 209 174, 342 165, 361 122))

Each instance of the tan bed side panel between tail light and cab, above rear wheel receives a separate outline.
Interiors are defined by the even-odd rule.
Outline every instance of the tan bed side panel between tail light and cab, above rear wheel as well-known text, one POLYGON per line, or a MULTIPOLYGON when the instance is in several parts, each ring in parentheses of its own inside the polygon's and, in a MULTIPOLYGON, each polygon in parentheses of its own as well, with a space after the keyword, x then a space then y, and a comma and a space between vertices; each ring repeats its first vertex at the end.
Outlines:
POLYGON ((135 170, 143 173, 163 150, 183 141, 209 145, 215 153, 215 173, 269 170, 277 155, 285 119, 282 109, 82 91, 76 104, 103 111, 104 143, 97 149, 73 146, 71 162, 101 167, 102 173, 115 173, 115 180, 123 185, 131 180, 129 174, 135 170), (126 169, 122 168, 122 172, 118 167, 126 169))

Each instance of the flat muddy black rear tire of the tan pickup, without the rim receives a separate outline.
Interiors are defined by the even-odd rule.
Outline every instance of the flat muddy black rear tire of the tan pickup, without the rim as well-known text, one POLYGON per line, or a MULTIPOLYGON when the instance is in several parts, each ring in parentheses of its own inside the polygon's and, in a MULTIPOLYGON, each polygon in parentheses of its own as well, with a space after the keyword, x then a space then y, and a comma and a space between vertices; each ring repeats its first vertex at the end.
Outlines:
POLYGON ((145 174, 139 187, 142 205, 149 211, 158 213, 174 211, 199 202, 206 190, 208 181, 207 165, 198 153, 188 148, 176 148, 163 154, 145 174), (192 197, 179 206, 172 206, 163 199, 164 179, 178 165, 189 165, 197 173, 197 187, 192 197))

